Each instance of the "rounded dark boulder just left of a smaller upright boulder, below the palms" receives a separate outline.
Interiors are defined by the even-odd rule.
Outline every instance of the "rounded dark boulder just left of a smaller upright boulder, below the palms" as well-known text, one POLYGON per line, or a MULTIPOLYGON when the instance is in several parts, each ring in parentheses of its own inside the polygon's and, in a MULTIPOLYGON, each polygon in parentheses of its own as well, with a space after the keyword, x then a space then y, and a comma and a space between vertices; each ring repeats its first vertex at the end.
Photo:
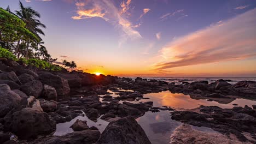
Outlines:
POLYGON ((43 92, 43 84, 40 81, 30 81, 20 87, 21 91, 35 98, 40 97, 43 92))

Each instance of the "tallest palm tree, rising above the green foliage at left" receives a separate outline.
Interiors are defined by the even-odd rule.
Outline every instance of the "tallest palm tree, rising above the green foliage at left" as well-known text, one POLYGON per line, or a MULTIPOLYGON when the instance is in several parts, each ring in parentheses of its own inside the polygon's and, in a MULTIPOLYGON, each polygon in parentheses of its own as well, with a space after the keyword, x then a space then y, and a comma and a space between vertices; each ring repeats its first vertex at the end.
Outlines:
MULTIPOLYGON (((30 30, 33 34, 37 35, 39 40, 42 40, 39 37, 39 34, 44 35, 44 32, 40 27, 46 28, 43 23, 41 23, 37 18, 40 18, 40 14, 33 10, 31 7, 24 7, 24 5, 20 2, 20 10, 16 10, 16 15, 20 17, 22 21, 26 23, 26 28, 30 30)), ((28 55, 28 49, 29 49, 29 43, 30 41, 27 41, 27 51, 26 51, 26 59, 28 55)), ((17 45, 17 49, 19 49, 17 45)))

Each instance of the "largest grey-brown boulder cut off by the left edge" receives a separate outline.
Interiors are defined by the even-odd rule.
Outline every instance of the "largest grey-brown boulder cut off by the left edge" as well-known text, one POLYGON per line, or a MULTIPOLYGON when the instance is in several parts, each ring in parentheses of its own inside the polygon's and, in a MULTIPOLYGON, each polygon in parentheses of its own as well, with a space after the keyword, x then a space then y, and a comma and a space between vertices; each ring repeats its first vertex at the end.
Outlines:
POLYGON ((0 84, 0 117, 5 116, 11 109, 21 101, 20 95, 10 90, 10 87, 6 84, 0 84))

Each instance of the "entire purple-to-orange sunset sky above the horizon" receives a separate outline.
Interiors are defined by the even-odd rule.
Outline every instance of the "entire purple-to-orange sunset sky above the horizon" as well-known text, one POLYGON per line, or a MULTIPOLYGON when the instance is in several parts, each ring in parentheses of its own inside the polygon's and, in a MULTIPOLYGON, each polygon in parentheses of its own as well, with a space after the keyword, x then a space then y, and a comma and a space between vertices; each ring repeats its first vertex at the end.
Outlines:
MULTIPOLYGON (((256 76, 255 0, 21 0, 53 58, 117 76, 256 76)), ((18 0, 0 7, 19 9, 18 0)))

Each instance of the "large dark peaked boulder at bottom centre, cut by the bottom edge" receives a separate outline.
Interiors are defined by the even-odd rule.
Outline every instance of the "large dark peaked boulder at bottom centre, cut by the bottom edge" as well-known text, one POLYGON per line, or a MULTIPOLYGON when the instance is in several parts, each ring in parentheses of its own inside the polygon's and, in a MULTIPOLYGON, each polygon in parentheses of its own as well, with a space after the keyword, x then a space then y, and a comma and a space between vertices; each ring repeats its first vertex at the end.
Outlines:
POLYGON ((97 141, 97 144, 119 143, 148 144, 151 142, 141 126, 129 116, 110 122, 97 141))

